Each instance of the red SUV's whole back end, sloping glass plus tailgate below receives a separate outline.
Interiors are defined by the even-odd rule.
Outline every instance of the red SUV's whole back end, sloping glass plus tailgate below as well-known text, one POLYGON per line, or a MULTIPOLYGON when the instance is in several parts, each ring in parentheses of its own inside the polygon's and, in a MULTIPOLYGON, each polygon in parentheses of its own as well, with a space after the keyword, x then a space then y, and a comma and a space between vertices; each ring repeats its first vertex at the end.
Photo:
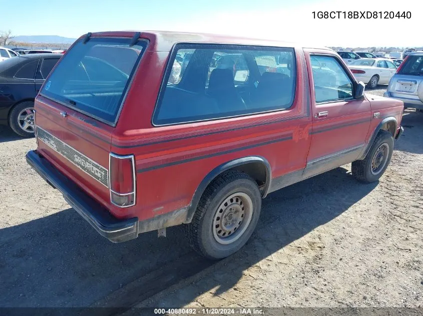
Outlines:
POLYGON ((109 153, 133 74, 146 48, 131 38, 79 39, 36 98, 38 151, 105 207, 109 153))

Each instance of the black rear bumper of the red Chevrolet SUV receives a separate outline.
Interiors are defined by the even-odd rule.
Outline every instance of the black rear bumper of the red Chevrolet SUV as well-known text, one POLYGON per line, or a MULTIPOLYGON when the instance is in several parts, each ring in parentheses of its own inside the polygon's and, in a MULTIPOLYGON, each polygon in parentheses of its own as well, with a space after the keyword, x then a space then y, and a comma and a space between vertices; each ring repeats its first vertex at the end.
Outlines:
POLYGON ((95 230, 113 243, 120 243, 138 237, 137 217, 119 220, 112 216, 101 204, 84 193, 73 181, 57 170, 35 150, 26 155, 27 162, 40 176, 58 189, 71 205, 95 230))

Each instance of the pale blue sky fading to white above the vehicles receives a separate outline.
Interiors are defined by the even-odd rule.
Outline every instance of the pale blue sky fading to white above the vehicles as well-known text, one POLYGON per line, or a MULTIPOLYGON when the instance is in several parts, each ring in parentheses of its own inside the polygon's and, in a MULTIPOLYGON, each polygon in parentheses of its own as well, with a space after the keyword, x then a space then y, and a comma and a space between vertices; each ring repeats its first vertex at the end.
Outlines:
POLYGON ((106 30, 240 35, 319 46, 423 46, 423 0, 0 0, 0 30, 79 37, 106 30), (410 11, 411 18, 318 19, 313 11, 410 11))

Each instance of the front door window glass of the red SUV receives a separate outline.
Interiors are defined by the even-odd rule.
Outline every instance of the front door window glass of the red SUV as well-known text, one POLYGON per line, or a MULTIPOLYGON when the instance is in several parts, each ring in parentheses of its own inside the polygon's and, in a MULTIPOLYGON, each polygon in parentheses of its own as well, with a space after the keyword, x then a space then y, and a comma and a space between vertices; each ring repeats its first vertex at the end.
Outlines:
POLYGON ((312 66, 316 103, 353 97, 353 83, 335 57, 313 56, 320 63, 312 66))

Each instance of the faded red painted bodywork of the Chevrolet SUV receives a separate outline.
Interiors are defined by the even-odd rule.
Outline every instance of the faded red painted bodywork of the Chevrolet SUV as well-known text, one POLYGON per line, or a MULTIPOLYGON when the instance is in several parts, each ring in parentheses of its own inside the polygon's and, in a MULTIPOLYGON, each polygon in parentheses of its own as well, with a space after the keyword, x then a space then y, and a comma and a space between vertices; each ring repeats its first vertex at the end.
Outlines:
MULTIPOLYGON (((93 33, 92 36, 132 37, 133 34, 134 32, 103 32, 93 33)), ((370 131, 379 121, 371 119, 374 111, 381 113, 381 119, 383 115, 393 113, 392 116, 400 121, 402 102, 392 99, 369 101, 364 98, 364 100, 315 105, 312 101, 314 92, 308 54, 335 53, 329 50, 306 49, 304 57, 301 54, 302 48, 295 47, 297 84, 295 100, 290 109, 208 122, 154 127, 151 117, 169 51, 175 43, 213 42, 286 47, 293 45, 209 34, 143 32, 141 37, 148 39, 150 44, 134 77, 116 127, 96 121, 42 96, 37 97, 35 105, 37 125, 105 168, 109 169, 109 152, 121 155, 134 154, 137 169, 156 168, 137 173, 137 204, 122 209, 110 203, 108 188, 55 153, 42 141, 39 142, 38 150, 41 154, 118 218, 138 216, 140 220, 145 220, 188 206, 204 177, 227 161, 250 155, 262 156, 269 161, 272 177, 276 178, 288 172, 304 169, 307 161, 312 159, 368 142, 370 131), (68 117, 61 117, 61 111, 67 111, 68 117), (328 111, 329 115, 322 119, 314 118, 313 115, 319 111, 328 111), (310 134, 319 128, 363 119, 368 121, 328 132, 310 134), (249 127, 266 122, 273 123, 249 127), (227 131, 234 128, 239 129, 227 131), (208 135, 198 136, 203 134, 208 135), (290 139, 187 161, 284 137, 290 139), (138 147, 120 147, 135 145, 138 147), (161 167, 163 164, 178 161, 182 163, 161 167), (158 209, 159 211, 153 213, 153 210, 158 209)))

